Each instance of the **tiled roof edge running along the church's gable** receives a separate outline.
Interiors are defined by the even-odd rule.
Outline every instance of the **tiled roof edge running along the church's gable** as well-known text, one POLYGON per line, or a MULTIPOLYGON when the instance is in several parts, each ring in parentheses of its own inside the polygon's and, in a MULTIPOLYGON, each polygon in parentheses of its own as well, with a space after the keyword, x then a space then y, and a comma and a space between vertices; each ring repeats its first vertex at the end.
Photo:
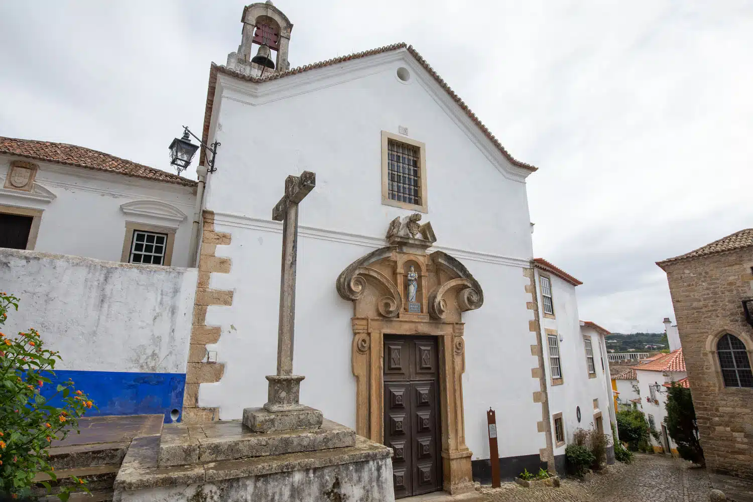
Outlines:
MULTIPOLYGON (((249 82, 255 82, 255 83, 261 83, 261 82, 268 82, 277 80, 279 78, 285 78, 289 75, 297 75, 298 73, 303 73, 303 71, 309 71, 316 68, 325 68, 326 66, 331 65, 337 65, 340 62, 346 62, 350 61, 351 59, 361 59, 368 56, 373 56, 375 54, 380 53, 386 53, 392 50, 400 50, 405 49, 410 53, 413 58, 416 59, 417 62, 419 62, 419 65, 421 65, 423 68, 425 68, 426 71, 429 72, 429 74, 434 78, 435 81, 437 81, 437 84, 444 89, 447 94, 450 95, 450 97, 453 99, 454 102, 458 104, 460 108, 465 112, 465 114, 468 115, 468 117, 471 118, 471 120, 478 126, 479 129, 481 129, 481 132, 483 132, 484 135, 486 135, 487 138, 489 138, 490 141, 495 145, 495 147, 498 149, 498 151, 501 152, 502 155, 507 158, 510 163, 512 163, 514 166, 522 167, 523 169, 528 169, 529 171, 536 171, 538 170, 537 167, 532 166, 531 164, 527 164, 524 162, 520 162, 520 160, 516 160, 507 150, 505 150, 505 147, 501 145, 499 140, 495 135, 492 134, 489 129, 483 125, 481 120, 479 120, 478 117, 476 117, 476 114, 474 114, 473 111, 471 111, 471 108, 468 108, 468 105, 463 102, 462 99, 460 99, 460 96, 458 96, 455 91, 452 90, 452 88, 447 85, 447 82, 444 81, 443 78, 437 74, 436 71, 434 71, 434 68, 431 68, 431 66, 426 62, 425 59, 422 58, 422 56, 416 52, 415 49, 413 49, 412 45, 407 45, 405 42, 401 42, 400 44, 392 44, 392 45, 386 45, 384 47, 377 47, 376 49, 371 50, 365 50, 364 52, 359 53, 352 53, 347 56, 340 56, 335 57, 333 59, 328 59, 326 61, 319 61, 312 63, 310 65, 303 65, 299 66, 297 68, 291 68, 286 71, 275 71, 271 72, 268 75, 264 75, 264 77, 258 78, 258 77, 252 77, 250 75, 244 75, 242 73, 239 73, 237 71, 231 70, 230 68, 227 68, 227 66, 224 65, 217 65, 215 63, 212 63, 212 66, 209 68, 209 88, 207 89, 207 96, 206 96, 206 109, 204 112, 204 133, 203 133, 203 141, 206 143, 207 137, 209 136, 209 122, 212 119, 212 107, 214 105, 215 100, 215 87, 217 85, 217 74, 218 73, 224 73, 226 75, 231 75, 235 78, 240 78, 245 81, 249 82)), ((201 161, 203 162, 204 159, 204 151, 202 149, 201 151, 201 161)))

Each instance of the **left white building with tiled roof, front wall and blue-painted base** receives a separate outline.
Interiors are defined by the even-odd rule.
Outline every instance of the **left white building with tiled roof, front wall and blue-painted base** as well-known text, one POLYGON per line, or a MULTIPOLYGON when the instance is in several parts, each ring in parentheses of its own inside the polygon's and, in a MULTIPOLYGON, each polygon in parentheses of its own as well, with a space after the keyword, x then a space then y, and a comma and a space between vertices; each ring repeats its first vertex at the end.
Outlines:
POLYGON ((196 191, 89 148, 0 137, 0 291, 20 298, 4 330, 35 327, 60 351, 55 379, 92 397, 87 415, 180 418, 196 191))

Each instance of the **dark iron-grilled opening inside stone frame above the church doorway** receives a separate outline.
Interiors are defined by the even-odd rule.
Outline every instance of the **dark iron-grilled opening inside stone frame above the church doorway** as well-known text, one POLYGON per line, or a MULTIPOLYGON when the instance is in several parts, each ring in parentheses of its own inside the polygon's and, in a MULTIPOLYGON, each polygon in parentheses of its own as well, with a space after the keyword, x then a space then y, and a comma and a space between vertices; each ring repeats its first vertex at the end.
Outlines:
POLYGON ((389 199, 422 205, 420 148, 389 139, 387 141, 387 190, 389 199))

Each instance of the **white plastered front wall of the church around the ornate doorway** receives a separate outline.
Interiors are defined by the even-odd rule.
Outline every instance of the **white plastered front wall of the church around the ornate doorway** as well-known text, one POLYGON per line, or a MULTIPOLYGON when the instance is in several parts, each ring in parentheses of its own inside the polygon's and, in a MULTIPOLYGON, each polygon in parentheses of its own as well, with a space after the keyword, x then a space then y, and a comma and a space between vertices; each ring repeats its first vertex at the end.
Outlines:
POLYGON ((491 406, 500 455, 538 454, 544 435, 536 430, 541 405, 532 401, 538 382, 531 378, 537 361, 523 276, 532 256, 525 175, 489 149, 486 138, 475 142, 473 129, 444 108, 444 90, 428 93, 436 84, 412 61, 398 51, 253 89, 220 75, 210 141, 222 142, 222 155, 206 207, 215 211, 215 230, 233 236, 216 251, 232 259, 232 269, 212 274, 210 287, 231 289, 234 297, 233 306, 209 307, 206 324, 223 328, 209 349, 226 366, 220 382, 201 385, 200 406, 240 418, 243 407, 267 400, 264 376, 276 365, 282 238, 271 211, 285 177, 309 170, 316 172, 316 188, 300 207, 294 371, 306 376, 303 403, 355 425, 353 307, 334 283, 353 260, 386 245, 392 218, 413 212, 381 203, 380 131, 406 126, 410 138, 426 144, 422 222, 431 221, 437 248, 461 260, 484 291, 481 309, 463 318, 466 442, 474 458, 489 457, 491 406), (401 66, 410 68, 410 84, 395 77, 401 66), (251 132, 262 123, 264 133, 251 132))

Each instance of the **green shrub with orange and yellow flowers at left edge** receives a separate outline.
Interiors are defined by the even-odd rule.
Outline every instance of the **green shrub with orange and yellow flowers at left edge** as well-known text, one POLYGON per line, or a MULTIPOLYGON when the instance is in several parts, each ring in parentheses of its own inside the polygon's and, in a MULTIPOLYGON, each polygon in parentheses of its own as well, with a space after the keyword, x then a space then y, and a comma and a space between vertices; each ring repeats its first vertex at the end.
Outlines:
MULTIPOLYGON (((17 297, 0 293, 0 328, 8 311, 18 310, 18 302, 17 297)), ((28 496, 37 473, 47 473, 56 480, 47 446, 72 430, 78 433, 78 418, 93 406, 70 380, 57 385, 53 396, 41 395, 41 388, 50 384, 45 375, 60 359, 58 352, 44 348, 34 328, 14 337, 0 333, 0 494, 28 496), (55 397, 60 397, 62 408, 47 404, 55 397)), ((58 494, 64 502, 76 489, 88 491, 84 479, 69 479, 75 485, 61 487, 58 494)), ((48 482, 41 484, 50 491, 48 482)))

